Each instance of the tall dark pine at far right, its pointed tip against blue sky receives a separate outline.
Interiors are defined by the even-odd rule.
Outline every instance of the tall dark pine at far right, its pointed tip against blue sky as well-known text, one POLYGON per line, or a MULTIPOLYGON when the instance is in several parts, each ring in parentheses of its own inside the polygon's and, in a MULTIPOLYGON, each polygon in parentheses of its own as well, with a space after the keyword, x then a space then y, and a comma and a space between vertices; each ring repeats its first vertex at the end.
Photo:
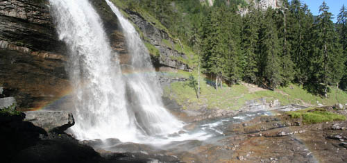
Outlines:
POLYGON ((316 19, 315 24, 315 38, 316 50, 314 59, 312 60, 314 68, 314 79, 317 82, 323 83, 323 94, 328 96, 328 84, 335 83, 336 80, 341 79, 341 51, 339 43, 337 42, 337 34, 335 32, 334 24, 332 23, 332 13, 329 12, 329 7, 323 1, 319 7, 321 15, 316 19), (333 66, 335 65, 335 66, 333 66), (338 68, 338 69, 335 69, 338 68))

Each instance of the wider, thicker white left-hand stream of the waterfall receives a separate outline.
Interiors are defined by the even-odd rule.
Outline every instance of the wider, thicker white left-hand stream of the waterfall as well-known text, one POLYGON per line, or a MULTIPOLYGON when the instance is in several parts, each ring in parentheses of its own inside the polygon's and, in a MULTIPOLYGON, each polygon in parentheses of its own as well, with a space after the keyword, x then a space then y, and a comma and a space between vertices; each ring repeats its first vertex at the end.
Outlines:
POLYGON ((136 139, 135 119, 126 108, 125 84, 118 62, 112 62, 99 15, 86 0, 50 0, 60 40, 69 47, 67 69, 74 87, 78 139, 136 139))

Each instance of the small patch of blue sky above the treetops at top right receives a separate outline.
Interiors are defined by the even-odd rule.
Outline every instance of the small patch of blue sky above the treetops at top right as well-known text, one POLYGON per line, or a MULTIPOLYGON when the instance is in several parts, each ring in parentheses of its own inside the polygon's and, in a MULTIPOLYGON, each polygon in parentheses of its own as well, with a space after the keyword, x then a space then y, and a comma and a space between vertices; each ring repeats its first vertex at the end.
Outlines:
MULTIPOLYGON (((319 15, 319 6, 321 6, 323 0, 301 0, 301 3, 306 3, 313 15, 319 15)), ((329 12, 332 12, 332 17, 334 17, 332 21, 336 23, 342 4, 347 7, 347 0, 325 0, 325 3, 329 6, 329 12)))

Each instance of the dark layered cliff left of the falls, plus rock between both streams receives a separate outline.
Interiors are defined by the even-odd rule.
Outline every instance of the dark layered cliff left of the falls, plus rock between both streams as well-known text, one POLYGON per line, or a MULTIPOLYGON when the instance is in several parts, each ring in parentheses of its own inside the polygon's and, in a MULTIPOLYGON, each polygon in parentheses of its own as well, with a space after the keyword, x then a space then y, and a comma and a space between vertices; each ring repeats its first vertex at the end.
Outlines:
MULTIPOLYGON (((117 17, 107 3, 90 2, 107 35, 115 33, 117 17)), ((110 41, 115 44, 115 39, 110 41)), ((68 49, 58 38, 48 0, 0 0, 0 97, 15 96, 17 108, 27 110, 66 96, 71 92, 67 60, 68 49)))

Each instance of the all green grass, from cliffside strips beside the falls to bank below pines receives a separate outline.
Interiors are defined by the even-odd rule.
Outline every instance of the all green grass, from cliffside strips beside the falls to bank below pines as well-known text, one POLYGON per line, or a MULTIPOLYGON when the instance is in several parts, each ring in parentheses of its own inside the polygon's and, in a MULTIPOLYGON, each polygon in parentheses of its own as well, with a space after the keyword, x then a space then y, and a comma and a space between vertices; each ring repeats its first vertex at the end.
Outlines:
MULTIPOLYGON (((129 8, 126 3, 120 0, 111 0, 115 3, 121 10, 125 10, 129 8)), ((147 22, 151 23, 156 28, 159 28, 162 31, 169 31, 165 28, 160 22, 155 19, 152 15, 150 15, 146 10, 142 8, 132 8, 135 12, 139 13, 146 19, 147 22)), ((126 12, 123 12, 126 17, 129 15, 126 12)), ((134 24, 135 26, 135 24, 134 24)), ((139 28, 135 26, 139 34, 141 35, 144 43, 149 49, 151 55, 159 56, 160 53, 155 46, 149 44, 147 40, 148 38, 144 37, 139 28)), ((172 35, 169 34, 171 40, 176 40, 172 35)), ((178 60, 180 62, 184 62, 192 67, 194 64, 194 60, 196 60, 197 56, 192 52, 189 46, 183 44, 183 49, 180 44, 174 43, 171 44, 169 40, 162 40, 162 44, 169 46, 171 49, 175 49, 180 53, 185 53, 188 56, 188 60, 183 58, 171 58, 174 60, 178 60)), ((196 65, 196 62, 195 62, 196 65)), ((189 77, 189 73, 185 71, 178 71, 178 74, 168 73, 167 75, 171 77, 189 77)), ((194 73, 195 78, 196 72, 194 73)), ((200 108, 201 105, 206 105, 208 108, 221 108, 221 109, 232 109, 238 110, 242 108, 246 101, 252 99, 258 99, 265 97, 268 101, 273 99, 278 99, 282 105, 286 105, 289 103, 299 103, 305 105, 316 105, 316 101, 323 103, 323 105, 332 105, 335 103, 346 103, 347 94, 346 92, 341 92, 341 90, 332 89, 332 92, 329 94, 329 98, 321 98, 319 96, 313 96, 312 94, 307 93, 302 87, 298 87, 297 85, 290 85, 289 87, 284 87, 277 89, 275 92, 269 90, 262 90, 258 92, 249 92, 248 87, 245 85, 233 85, 232 87, 224 87, 223 89, 219 89, 216 91, 214 87, 208 85, 207 83, 212 84, 207 78, 201 78, 201 98, 196 98, 196 93, 194 88, 189 87, 187 82, 173 83, 171 87, 166 87, 164 90, 165 96, 169 96, 170 98, 175 98, 176 101, 180 105, 183 105, 184 108, 189 109, 197 109, 200 108)))

